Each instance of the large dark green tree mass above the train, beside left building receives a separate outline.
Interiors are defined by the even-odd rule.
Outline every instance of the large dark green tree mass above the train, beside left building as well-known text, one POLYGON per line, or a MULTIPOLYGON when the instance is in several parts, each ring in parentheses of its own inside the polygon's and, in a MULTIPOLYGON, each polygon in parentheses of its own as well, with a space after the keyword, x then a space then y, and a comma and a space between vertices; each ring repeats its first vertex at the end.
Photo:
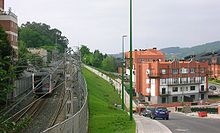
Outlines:
POLYGON ((68 39, 62 36, 62 32, 58 29, 51 29, 49 25, 44 23, 27 22, 19 28, 19 41, 23 41, 29 48, 46 48, 58 50, 63 53, 68 45, 68 39))

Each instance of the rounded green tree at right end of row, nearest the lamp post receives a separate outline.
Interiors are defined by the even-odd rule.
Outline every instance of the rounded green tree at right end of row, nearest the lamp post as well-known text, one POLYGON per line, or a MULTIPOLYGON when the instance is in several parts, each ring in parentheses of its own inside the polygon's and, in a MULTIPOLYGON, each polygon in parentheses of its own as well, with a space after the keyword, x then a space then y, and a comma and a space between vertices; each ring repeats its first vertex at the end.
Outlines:
POLYGON ((116 59, 112 56, 106 57, 102 61, 102 69, 110 72, 115 72, 117 69, 116 59))

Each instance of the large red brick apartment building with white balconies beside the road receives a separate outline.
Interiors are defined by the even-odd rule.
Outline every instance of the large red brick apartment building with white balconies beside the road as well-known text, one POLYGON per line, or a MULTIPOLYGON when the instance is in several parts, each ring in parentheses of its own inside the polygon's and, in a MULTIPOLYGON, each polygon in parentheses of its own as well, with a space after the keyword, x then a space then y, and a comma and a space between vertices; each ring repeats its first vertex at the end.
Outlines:
MULTIPOLYGON (((207 99, 208 62, 165 61, 164 54, 156 48, 135 50, 132 54, 132 81, 139 98, 151 104, 207 99)), ((129 58, 127 52, 126 66, 129 58)))

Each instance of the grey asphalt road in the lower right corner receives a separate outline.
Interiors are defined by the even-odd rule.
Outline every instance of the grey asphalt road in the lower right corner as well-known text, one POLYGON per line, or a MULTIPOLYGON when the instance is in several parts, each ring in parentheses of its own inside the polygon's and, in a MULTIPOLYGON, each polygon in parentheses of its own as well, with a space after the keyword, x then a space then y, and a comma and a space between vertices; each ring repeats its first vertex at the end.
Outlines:
POLYGON ((220 119, 196 118, 171 113, 170 120, 158 120, 173 133, 220 133, 220 119))

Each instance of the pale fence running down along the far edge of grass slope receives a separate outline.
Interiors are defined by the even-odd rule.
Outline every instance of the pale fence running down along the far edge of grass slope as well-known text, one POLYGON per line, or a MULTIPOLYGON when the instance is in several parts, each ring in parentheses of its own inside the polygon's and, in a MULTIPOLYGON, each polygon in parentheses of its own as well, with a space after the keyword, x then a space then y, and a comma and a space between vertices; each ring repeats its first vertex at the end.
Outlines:
MULTIPOLYGON (((109 83, 111 83, 115 87, 115 89, 118 91, 118 94, 120 94, 120 96, 122 97, 122 94, 121 94, 121 92, 122 92, 122 85, 121 85, 121 80, 120 79, 114 80, 114 79, 108 77, 107 75, 99 72, 98 70, 96 70, 96 69, 94 69, 92 67, 89 67, 89 66, 86 66, 86 65, 85 65, 85 67, 87 69, 89 69, 91 72, 95 73, 96 75, 100 76, 104 80, 106 80, 109 83)), ((128 109, 130 109, 130 95, 126 91, 124 91, 124 102, 125 102, 125 106, 128 109)), ((136 109, 136 107, 137 107, 137 105, 134 103, 134 101, 132 103, 132 106, 133 106, 133 109, 134 108, 136 109)))

